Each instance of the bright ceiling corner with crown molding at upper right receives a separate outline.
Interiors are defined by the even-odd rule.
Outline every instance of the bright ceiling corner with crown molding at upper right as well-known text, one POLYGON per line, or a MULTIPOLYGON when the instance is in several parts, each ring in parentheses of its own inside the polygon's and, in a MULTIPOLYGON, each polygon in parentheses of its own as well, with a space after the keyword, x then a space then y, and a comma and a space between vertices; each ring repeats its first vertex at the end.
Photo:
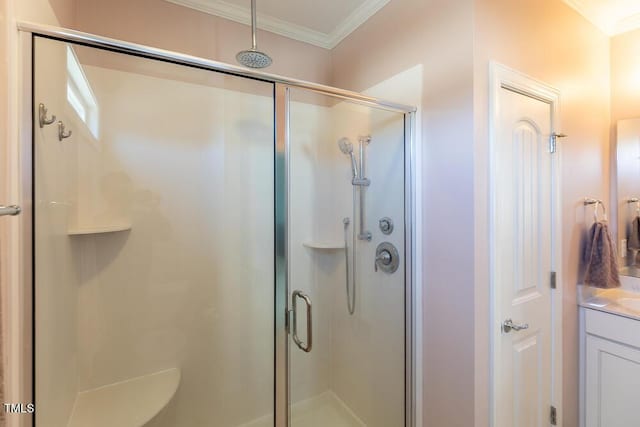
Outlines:
POLYGON ((605 34, 640 28, 640 0, 562 0, 605 34))

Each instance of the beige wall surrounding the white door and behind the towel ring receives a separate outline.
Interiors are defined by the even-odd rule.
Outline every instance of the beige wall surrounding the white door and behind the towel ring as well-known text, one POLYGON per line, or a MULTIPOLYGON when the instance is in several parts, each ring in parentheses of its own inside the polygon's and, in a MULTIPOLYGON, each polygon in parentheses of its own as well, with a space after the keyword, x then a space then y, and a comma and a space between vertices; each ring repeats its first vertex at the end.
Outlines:
MULTIPOLYGON (((562 161, 563 409, 562 425, 578 423, 578 315, 581 237, 590 225, 584 196, 608 200, 609 39, 555 0, 477 0, 475 33, 476 131, 476 411, 488 400, 487 160, 488 69, 495 60, 558 88, 562 161), (529 7, 526 7, 529 5, 529 7), (505 41, 509 42, 506 43, 505 41)), ((486 425, 478 423, 477 426, 486 425)))

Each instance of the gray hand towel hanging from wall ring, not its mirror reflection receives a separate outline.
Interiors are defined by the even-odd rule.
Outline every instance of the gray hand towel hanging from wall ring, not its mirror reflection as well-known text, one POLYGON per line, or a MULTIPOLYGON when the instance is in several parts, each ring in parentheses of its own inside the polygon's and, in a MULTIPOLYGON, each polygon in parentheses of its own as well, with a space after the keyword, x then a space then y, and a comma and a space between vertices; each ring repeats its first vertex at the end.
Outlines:
POLYGON ((584 261, 586 285, 597 288, 620 287, 616 249, 605 221, 596 222, 589 230, 584 261))

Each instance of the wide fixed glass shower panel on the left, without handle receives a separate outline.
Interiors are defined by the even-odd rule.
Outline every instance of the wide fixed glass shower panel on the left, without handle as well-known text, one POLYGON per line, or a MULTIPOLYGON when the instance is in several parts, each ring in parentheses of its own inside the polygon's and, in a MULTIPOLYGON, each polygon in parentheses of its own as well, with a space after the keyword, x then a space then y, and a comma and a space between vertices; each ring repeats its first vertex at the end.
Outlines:
POLYGON ((273 426, 273 84, 41 37, 33 78, 36 426, 273 426))

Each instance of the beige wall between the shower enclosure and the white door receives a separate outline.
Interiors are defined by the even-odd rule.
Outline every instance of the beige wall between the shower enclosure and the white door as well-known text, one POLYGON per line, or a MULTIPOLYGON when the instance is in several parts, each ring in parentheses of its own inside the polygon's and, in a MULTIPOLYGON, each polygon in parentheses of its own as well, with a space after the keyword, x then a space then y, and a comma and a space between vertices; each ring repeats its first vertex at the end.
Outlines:
POLYGON ((472 6, 396 0, 333 51, 333 85, 353 90, 423 64, 425 426, 474 425, 472 6))

